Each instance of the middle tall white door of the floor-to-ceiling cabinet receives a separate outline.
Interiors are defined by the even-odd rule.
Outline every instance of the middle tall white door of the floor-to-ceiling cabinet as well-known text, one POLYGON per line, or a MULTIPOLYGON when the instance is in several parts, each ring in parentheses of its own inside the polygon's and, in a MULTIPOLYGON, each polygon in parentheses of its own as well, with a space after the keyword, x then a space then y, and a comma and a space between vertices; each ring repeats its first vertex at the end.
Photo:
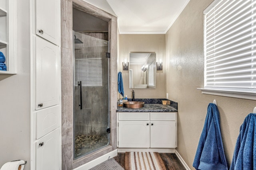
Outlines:
POLYGON ((60 103, 58 46, 36 37, 36 110, 60 103))

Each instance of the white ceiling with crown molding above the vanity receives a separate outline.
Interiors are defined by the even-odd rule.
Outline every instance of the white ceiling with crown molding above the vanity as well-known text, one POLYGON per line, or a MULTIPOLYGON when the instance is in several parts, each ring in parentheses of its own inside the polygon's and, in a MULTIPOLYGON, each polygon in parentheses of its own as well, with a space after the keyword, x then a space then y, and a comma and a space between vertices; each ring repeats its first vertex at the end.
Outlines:
POLYGON ((118 17, 120 34, 165 34, 189 0, 85 0, 118 17))

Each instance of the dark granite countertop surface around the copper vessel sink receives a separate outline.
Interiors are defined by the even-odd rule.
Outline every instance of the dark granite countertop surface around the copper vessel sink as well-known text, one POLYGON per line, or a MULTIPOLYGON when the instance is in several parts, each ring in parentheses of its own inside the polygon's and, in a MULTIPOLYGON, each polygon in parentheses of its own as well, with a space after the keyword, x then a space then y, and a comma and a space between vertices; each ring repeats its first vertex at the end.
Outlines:
POLYGON ((177 112, 178 110, 170 105, 163 104, 144 104, 144 107, 130 109, 119 106, 116 112, 177 112))

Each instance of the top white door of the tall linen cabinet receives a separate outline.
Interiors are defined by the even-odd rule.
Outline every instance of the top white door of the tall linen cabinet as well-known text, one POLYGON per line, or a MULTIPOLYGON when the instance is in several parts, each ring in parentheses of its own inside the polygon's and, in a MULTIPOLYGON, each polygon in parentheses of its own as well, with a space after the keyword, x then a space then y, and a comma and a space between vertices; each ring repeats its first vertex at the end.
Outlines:
POLYGON ((60 0, 36 0, 36 34, 60 45, 60 0))

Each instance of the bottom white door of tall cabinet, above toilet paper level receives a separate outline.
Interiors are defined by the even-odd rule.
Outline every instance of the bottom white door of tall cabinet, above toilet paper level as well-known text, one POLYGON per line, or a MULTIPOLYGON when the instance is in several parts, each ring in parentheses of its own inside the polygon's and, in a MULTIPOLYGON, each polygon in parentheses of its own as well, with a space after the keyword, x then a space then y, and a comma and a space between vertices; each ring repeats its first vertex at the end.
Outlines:
POLYGON ((60 170, 60 129, 36 143, 36 170, 60 170))

